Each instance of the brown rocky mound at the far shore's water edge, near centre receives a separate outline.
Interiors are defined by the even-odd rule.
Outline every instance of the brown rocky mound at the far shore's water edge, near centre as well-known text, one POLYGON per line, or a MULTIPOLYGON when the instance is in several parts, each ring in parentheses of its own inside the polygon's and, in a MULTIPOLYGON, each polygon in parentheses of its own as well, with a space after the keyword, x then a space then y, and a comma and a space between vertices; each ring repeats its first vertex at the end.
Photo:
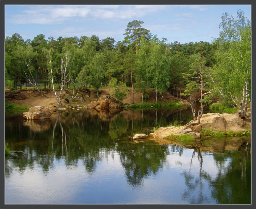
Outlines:
POLYGON ((96 109, 105 109, 105 108, 120 108, 122 107, 121 104, 119 104, 118 101, 115 100, 115 98, 109 98, 107 96, 102 96, 98 99, 98 101, 91 101, 90 104, 85 106, 85 108, 96 108, 96 109))

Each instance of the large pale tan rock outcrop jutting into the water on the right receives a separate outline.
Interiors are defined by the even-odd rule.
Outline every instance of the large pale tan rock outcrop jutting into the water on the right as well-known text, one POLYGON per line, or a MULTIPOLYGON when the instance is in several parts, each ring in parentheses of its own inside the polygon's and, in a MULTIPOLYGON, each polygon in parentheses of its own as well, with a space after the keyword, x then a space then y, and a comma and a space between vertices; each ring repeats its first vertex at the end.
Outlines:
POLYGON ((203 128, 210 128, 212 131, 218 132, 239 132, 250 131, 251 123, 250 118, 243 120, 238 113, 207 113, 202 115, 200 124, 187 124, 180 127, 166 127, 159 128, 154 133, 150 133, 149 136, 154 138, 165 138, 171 135, 189 134, 193 138, 200 138, 200 132, 203 128))

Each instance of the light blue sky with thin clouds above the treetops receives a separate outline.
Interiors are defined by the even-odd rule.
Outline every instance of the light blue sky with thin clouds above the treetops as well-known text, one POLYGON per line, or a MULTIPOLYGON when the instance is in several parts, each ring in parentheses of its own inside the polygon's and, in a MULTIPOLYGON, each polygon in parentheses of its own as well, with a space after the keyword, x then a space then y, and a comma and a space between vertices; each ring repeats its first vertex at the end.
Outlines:
POLYGON ((236 17, 238 9, 251 20, 250 5, 6 5, 5 36, 18 33, 33 40, 43 34, 56 40, 97 35, 122 41, 127 24, 142 20, 143 28, 168 43, 211 43, 219 35, 222 14, 236 17))

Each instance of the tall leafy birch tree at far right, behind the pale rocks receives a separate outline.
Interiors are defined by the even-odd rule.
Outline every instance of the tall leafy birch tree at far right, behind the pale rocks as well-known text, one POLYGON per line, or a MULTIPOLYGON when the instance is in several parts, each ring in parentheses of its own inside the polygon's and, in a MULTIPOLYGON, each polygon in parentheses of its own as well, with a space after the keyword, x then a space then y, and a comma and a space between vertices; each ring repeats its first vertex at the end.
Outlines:
POLYGON ((238 10, 236 19, 223 14, 220 28, 212 81, 220 88, 223 100, 238 107, 244 118, 251 95, 251 23, 238 10))

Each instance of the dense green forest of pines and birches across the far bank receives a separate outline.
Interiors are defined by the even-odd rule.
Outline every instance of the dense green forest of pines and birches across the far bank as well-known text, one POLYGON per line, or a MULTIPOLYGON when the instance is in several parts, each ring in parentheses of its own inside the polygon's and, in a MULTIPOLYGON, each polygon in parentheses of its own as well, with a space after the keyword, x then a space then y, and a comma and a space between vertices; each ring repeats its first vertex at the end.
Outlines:
POLYGON ((33 86, 42 96, 40 89, 51 88, 59 106, 63 89, 74 97, 93 87, 99 96, 100 88, 109 86, 109 95, 122 101, 130 87, 146 102, 153 88, 155 103, 166 90, 180 98, 199 92, 202 108, 215 97, 240 109, 244 117, 251 97, 251 23, 242 10, 236 18, 224 13, 221 19, 219 37, 212 43, 168 42, 139 20, 129 22, 124 40, 117 42, 97 35, 55 40, 39 34, 23 40, 14 33, 5 39, 5 86, 33 86))

